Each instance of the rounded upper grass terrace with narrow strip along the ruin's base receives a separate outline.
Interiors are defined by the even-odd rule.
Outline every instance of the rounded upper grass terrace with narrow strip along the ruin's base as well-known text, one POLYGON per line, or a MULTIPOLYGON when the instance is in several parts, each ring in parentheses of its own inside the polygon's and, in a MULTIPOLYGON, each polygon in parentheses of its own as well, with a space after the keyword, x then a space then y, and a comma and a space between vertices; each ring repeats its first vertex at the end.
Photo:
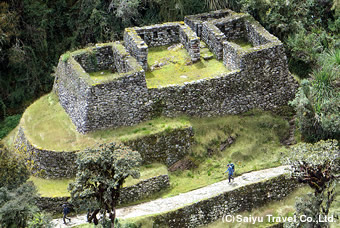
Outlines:
POLYGON ((28 107, 21 126, 31 143, 38 148, 56 151, 82 150, 96 143, 126 141, 157 134, 169 129, 190 126, 185 119, 157 118, 131 127, 99 130, 86 135, 77 132, 56 95, 50 93, 28 107))

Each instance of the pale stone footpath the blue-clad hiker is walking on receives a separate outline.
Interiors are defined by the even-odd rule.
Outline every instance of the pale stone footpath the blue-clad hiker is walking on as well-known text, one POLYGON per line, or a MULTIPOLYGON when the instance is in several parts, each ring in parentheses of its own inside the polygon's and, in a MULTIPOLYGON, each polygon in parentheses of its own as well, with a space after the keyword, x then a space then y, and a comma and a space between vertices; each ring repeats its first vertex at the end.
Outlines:
MULTIPOLYGON (((183 207, 184 205, 192 204, 200 200, 205 200, 223 192, 233 191, 236 188, 242 186, 253 184, 266 179, 271 179, 284 173, 289 173, 288 166, 280 166, 276 168, 245 173, 241 176, 235 177, 232 183, 228 183, 228 180, 224 180, 173 197, 161 198, 134 206, 119 208, 116 211, 117 218, 126 219, 176 210, 183 207)), ((63 224, 62 218, 54 219, 52 222, 54 224, 54 227, 57 228, 72 227, 87 223, 85 214, 71 217, 71 222, 67 225, 63 224)))

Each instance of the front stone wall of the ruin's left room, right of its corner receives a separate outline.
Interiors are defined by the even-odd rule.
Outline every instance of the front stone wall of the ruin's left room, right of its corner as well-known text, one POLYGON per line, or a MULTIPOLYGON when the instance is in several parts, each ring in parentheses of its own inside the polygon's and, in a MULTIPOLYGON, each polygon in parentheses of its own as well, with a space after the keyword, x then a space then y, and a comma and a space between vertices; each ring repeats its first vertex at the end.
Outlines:
POLYGON ((88 96, 89 131, 130 126, 148 119, 145 76, 134 72, 105 84, 93 85, 88 96))

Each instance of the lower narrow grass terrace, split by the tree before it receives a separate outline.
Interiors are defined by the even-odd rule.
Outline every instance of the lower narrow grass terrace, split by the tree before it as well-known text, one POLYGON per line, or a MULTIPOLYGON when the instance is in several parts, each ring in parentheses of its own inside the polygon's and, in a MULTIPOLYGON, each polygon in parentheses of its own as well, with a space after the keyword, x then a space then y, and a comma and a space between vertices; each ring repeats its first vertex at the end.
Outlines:
MULTIPOLYGON (((168 170, 163 164, 150 164, 140 167, 140 178, 133 179, 132 177, 128 177, 124 183, 123 187, 128 187, 131 185, 135 185, 142 180, 146 180, 148 178, 167 174, 168 170)), ((67 190, 69 183, 74 181, 74 179, 43 179, 39 177, 31 176, 30 181, 33 181, 34 185, 38 189, 38 193, 42 197, 62 197, 62 196, 70 196, 70 193, 67 190)))

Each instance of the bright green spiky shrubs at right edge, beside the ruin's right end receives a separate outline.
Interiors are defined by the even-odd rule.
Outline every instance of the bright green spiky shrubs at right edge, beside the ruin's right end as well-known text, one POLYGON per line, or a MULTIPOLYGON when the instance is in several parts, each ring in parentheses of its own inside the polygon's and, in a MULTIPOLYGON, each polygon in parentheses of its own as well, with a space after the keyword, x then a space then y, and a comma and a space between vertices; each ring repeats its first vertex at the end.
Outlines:
POLYGON ((340 49, 320 56, 321 67, 303 80, 291 104, 306 141, 340 139, 340 49))

